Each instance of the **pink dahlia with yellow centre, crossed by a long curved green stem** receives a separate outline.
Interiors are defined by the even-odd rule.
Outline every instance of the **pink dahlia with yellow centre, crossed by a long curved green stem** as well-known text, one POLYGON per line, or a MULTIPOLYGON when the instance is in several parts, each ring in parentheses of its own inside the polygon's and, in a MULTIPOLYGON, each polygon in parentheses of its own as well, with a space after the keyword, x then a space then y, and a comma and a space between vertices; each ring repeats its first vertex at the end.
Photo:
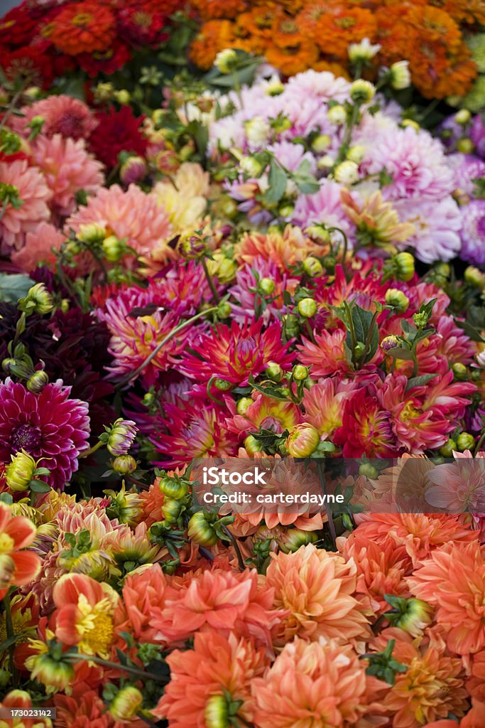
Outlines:
MULTIPOLYGON (((180 323, 179 317, 172 312, 161 312, 158 309, 143 309, 153 304, 150 290, 129 288, 122 290, 118 296, 108 298, 104 309, 97 309, 97 317, 104 321, 111 331, 109 352, 114 358, 113 366, 108 367, 111 379, 119 379, 124 374, 135 372, 137 367, 151 355, 160 342, 180 323), (133 309, 141 309, 131 314, 133 309)), ((167 371, 177 357, 183 354, 185 347, 193 340, 194 329, 187 326, 167 344, 145 367, 142 378, 149 387, 161 371, 167 371)))

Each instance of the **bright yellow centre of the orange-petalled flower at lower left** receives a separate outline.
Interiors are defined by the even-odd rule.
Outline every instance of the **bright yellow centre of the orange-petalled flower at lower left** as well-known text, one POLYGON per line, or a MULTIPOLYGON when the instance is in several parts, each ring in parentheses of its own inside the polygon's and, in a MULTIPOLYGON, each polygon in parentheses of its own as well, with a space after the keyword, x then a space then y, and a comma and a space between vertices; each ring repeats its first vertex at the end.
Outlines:
POLYGON ((113 617, 111 601, 108 598, 92 606, 84 594, 79 596, 78 609, 82 614, 76 629, 81 636, 79 651, 85 654, 98 654, 109 657, 109 647, 113 641, 113 617))

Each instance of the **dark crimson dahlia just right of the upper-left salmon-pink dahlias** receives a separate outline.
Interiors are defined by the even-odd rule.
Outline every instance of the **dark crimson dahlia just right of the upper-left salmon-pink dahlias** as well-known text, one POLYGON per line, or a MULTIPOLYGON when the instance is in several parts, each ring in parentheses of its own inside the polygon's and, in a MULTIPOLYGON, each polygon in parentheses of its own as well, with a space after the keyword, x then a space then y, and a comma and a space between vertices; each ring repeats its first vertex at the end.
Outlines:
POLYGON ((131 106, 122 106, 119 111, 111 106, 108 112, 96 114, 96 118, 99 124, 89 137, 89 146, 106 167, 116 166, 121 151, 144 156, 148 145, 140 131, 144 116, 135 116, 131 106))

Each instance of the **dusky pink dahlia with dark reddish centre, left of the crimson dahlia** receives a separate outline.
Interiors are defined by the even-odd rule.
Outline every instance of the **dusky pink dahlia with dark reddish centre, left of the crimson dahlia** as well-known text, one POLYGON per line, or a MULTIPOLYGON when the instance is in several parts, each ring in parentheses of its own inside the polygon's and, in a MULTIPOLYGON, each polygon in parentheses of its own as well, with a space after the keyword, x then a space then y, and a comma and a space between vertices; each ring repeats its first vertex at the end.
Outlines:
POLYGON ((23 116, 15 116, 12 122, 18 134, 28 134, 28 124, 34 116, 44 119, 42 134, 47 137, 61 134, 73 139, 87 139, 98 123, 85 103, 64 94, 48 96, 32 106, 23 106, 20 111, 23 116))

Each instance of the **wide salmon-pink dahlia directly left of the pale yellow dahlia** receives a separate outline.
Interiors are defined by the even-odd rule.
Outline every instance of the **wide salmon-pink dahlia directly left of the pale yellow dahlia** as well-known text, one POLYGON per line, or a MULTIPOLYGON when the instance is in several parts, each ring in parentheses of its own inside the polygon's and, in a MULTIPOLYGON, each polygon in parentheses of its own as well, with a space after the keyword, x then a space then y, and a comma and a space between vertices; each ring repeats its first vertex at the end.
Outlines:
POLYGON ((172 229, 166 210, 159 205, 156 195, 145 194, 135 184, 127 191, 117 184, 98 190, 87 205, 68 218, 66 227, 78 232, 87 223, 100 223, 119 240, 125 238, 138 256, 150 257, 156 251, 161 262, 175 256, 167 245, 172 229))

